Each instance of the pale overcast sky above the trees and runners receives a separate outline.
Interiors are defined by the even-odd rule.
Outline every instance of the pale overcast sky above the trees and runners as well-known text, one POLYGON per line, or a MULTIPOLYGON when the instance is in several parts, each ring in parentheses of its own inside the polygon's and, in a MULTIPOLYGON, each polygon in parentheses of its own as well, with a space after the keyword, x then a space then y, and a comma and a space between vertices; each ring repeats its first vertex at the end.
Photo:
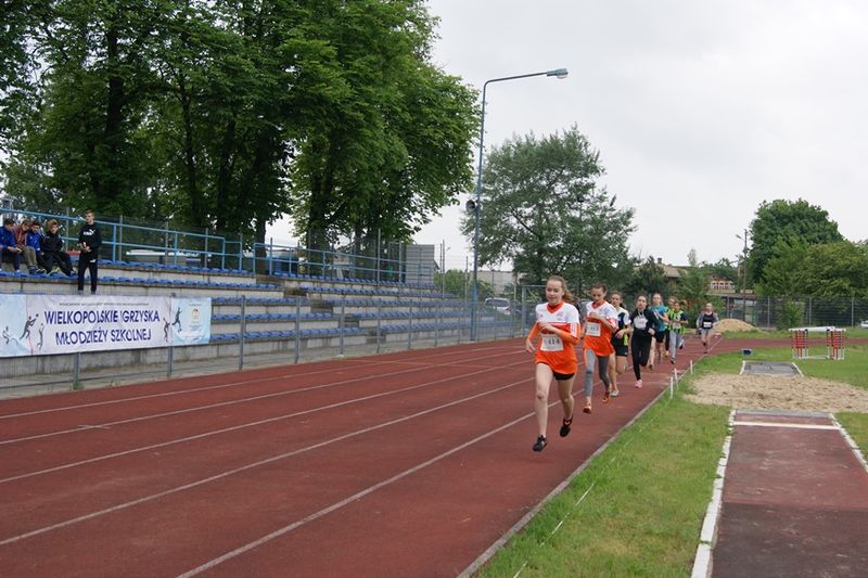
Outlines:
MULTIPOLYGON (((486 149, 576 124, 602 183, 636 208, 634 253, 672 264, 735 258, 762 201, 805 198, 868 237, 868 2, 430 0, 434 61, 489 85, 486 149), (675 210, 674 210, 675 209, 675 210), (675 215, 681 216, 676 231, 675 215)), ((461 204, 468 195, 461 196, 461 204)), ((459 207, 416 240, 472 248, 459 207)))

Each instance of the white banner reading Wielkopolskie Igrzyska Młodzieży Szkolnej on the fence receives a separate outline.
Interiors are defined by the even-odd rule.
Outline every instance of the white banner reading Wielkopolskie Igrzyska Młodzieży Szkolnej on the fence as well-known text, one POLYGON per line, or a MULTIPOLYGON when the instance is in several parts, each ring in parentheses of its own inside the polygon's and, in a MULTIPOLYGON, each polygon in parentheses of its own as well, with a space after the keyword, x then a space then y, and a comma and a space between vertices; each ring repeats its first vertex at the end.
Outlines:
POLYGON ((201 345, 210 298, 0 295, 0 357, 201 345))

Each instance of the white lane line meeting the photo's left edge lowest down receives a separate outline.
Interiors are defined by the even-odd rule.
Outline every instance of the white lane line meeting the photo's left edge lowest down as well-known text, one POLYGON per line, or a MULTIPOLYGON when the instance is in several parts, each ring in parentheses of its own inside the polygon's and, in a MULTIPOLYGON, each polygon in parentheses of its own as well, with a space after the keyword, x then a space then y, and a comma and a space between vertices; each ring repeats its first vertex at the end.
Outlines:
MULTIPOLYGON (((181 491, 184 491, 184 490, 189 490, 189 489, 192 489, 192 488, 197 488, 200 486, 204 486, 204 485, 209 484, 212 481, 217 481, 219 479, 224 479, 224 478, 227 478, 229 476, 233 476, 235 474, 240 474, 242 472, 246 472, 248 470, 253 470, 255 467, 259 467, 261 465, 267 465, 267 464, 270 464, 270 463, 273 463, 273 462, 285 460, 286 458, 292 458, 292 457, 298 455, 301 453, 305 453, 305 452, 312 451, 315 449, 319 449, 319 448, 322 448, 322 447, 326 447, 326 446, 329 446, 329 445, 332 445, 332 444, 336 444, 337 441, 343 441, 343 440, 349 439, 352 437, 360 436, 362 434, 368 434, 370 432, 375 432, 376 429, 383 429, 383 428, 388 427, 391 425, 395 425, 395 424, 403 423, 403 422, 408 422, 410 420, 416 420, 416 419, 418 419, 418 418, 420 418, 422 415, 427 415, 429 413, 433 413, 435 411, 439 411, 439 410, 443 410, 443 409, 446 409, 446 408, 450 408, 452 406, 458 406, 460 403, 464 403, 465 401, 472 401, 472 400, 478 399, 481 397, 485 397, 485 396, 488 396, 488 395, 492 395, 492 394, 496 394, 496 393, 509 389, 509 388, 514 387, 514 386, 516 386, 519 384, 526 384, 526 383, 533 382, 533 381, 534 381, 533 378, 526 378, 526 380, 520 380, 518 382, 512 382, 512 383, 509 383, 507 385, 495 387, 494 389, 488 389, 486 391, 482 391, 480 394, 475 394, 475 395, 472 395, 472 396, 469 396, 469 397, 464 397, 464 398, 461 398, 461 399, 456 399, 456 400, 449 401, 448 403, 443 403, 443 404, 436 406, 434 408, 429 408, 426 410, 423 410, 423 411, 420 411, 420 412, 417 412, 417 413, 412 413, 410 415, 405 415, 404 418, 398 418, 398 419, 395 419, 395 420, 391 420, 388 422, 383 422, 381 424, 372 425, 372 426, 366 427, 363 429, 357 429, 355 432, 350 432, 348 434, 343 434, 341 436, 333 437, 333 438, 327 439, 324 441, 319 441, 317 444, 314 444, 314 445, 310 445, 310 446, 306 446, 304 448, 299 448, 299 449, 296 449, 296 450, 293 450, 293 451, 288 451, 288 452, 281 453, 279 455, 272 455, 271 458, 266 458, 264 460, 258 460, 256 462, 252 462, 252 463, 248 463, 248 464, 245 464, 245 465, 232 468, 232 470, 228 470, 226 472, 221 472, 219 474, 215 474, 215 475, 208 476, 206 478, 202 478, 202 479, 197 479, 195 481, 191 481, 189 484, 184 484, 183 486, 178 486, 176 488, 164 490, 164 491, 161 491, 161 492, 157 492, 157 493, 152 493, 150 496, 143 496, 143 497, 138 498, 136 500, 130 500, 128 502, 119 503, 119 504, 113 505, 111 508, 99 510, 97 512, 91 512, 90 514, 85 514, 85 515, 77 516, 77 517, 74 517, 74 518, 71 518, 71 519, 66 519, 64 522, 59 522, 56 524, 52 524, 50 526, 44 526, 42 528, 38 528, 38 529, 31 530, 31 531, 28 531, 28 532, 25 532, 25 534, 20 534, 17 536, 12 536, 10 538, 7 538, 7 539, 0 541, 0 545, 7 545, 7 544, 20 542, 20 541, 25 540, 27 538, 33 538, 35 536, 40 536, 42 534, 47 534, 47 532, 52 531, 52 530, 56 530, 56 529, 65 528, 65 527, 68 527, 68 526, 73 526, 73 525, 79 524, 81 522, 87 522, 89 519, 93 519, 93 518, 97 518, 97 517, 100 517, 100 516, 104 516, 106 514, 111 514, 111 513, 114 513, 114 512, 118 512, 120 510, 126 510, 126 509, 132 508, 133 505, 139 505, 139 504, 142 504, 142 503, 145 503, 145 502, 151 502, 151 501, 154 501, 154 500, 158 500, 161 498, 165 498, 166 496, 171 496, 174 493, 178 493, 178 492, 181 492, 181 491)), ((523 418, 520 418, 515 422, 511 422, 508 425, 512 425, 513 423, 518 423, 518 422, 520 422, 522 420, 526 420, 527 418, 529 418, 532 415, 534 415, 534 414, 531 413, 531 414, 524 415, 523 418)), ((501 427, 499 427, 497 429, 494 429, 494 431, 489 432, 488 434, 486 434, 486 436, 492 435, 492 434, 494 434, 496 432, 499 432, 500 429, 503 429, 505 427, 507 427, 507 426, 501 426, 501 427)), ((481 439, 481 438, 477 438, 477 439, 481 439)), ((463 448, 463 447, 465 447, 468 445, 470 445, 470 442, 463 444, 462 446, 459 446, 458 448, 463 448)), ((452 451, 457 451, 457 449, 452 450, 452 451)))

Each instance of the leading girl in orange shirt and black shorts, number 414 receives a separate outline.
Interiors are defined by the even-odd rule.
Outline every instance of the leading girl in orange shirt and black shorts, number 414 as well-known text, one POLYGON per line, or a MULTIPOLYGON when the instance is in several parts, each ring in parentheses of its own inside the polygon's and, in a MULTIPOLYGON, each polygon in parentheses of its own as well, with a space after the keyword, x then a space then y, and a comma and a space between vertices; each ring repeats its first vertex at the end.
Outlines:
POLYGON ((551 275, 546 282, 546 303, 536 306, 534 324, 524 348, 534 354, 536 363, 536 397, 534 412, 539 435, 534 451, 542 451, 548 445, 546 427, 549 420, 549 387, 551 380, 558 382, 558 394, 563 406, 561 437, 570 435, 573 425, 573 381, 578 360, 575 345, 578 343, 578 309, 572 305, 573 295, 562 277, 551 275), (539 348, 534 341, 540 337, 539 348))

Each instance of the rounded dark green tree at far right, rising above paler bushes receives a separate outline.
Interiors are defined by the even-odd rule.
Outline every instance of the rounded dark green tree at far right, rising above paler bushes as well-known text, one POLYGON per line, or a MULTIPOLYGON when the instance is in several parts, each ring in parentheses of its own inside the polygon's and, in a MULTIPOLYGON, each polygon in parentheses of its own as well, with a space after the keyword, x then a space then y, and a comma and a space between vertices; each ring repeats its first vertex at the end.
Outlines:
POLYGON ((838 223, 829 220, 829 213, 819 206, 801 198, 764 202, 751 222, 749 270, 754 281, 763 282, 766 279, 766 266, 777 255, 777 247, 794 243, 834 243, 842 240, 838 223), (779 245, 780 242, 784 245, 779 245))

